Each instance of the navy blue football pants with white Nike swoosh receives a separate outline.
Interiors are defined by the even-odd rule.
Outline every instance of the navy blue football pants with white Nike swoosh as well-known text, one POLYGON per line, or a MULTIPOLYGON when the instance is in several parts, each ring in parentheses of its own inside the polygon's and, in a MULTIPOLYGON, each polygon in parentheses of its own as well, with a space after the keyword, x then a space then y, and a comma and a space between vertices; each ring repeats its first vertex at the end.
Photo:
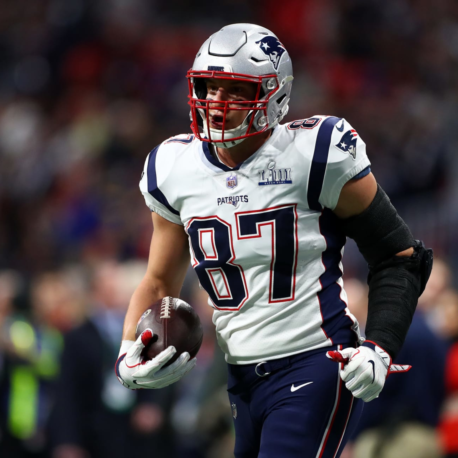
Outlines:
POLYGON ((341 364, 326 357, 342 348, 258 365, 228 364, 235 458, 340 456, 363 408, 342 382, 341 364))

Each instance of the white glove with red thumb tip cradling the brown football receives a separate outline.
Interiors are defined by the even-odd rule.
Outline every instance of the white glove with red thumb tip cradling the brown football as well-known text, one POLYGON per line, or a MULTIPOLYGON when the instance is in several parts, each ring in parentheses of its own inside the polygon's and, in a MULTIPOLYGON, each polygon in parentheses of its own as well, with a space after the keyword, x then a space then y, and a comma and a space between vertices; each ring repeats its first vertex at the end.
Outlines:
POLYGON ((164 388, 180 380, 196 365, 196 358, 189 360, 189 353, 184 352, 171 365, 163 367, 176 353, 173 346, 167 347, 152 360, 145 360, 141 353, 152 338, 152 330, 145 329, 135 342, 122 341, 114 370, 126 388, 164 388))

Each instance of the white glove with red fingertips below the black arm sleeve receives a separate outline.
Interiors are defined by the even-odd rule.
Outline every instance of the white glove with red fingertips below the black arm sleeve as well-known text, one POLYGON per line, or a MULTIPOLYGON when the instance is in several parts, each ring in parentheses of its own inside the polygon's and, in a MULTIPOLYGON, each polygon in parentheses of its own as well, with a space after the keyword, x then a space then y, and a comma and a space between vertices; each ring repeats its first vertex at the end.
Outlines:
POLYGON ((391 357, 375 342, 366 340, 358 348, 328 351, 326 356, 343 363, 340 378, 355 398, 364 402, 378 398, 387 376, 393 372, 407 372, 407 364, 392 364, 391 357))

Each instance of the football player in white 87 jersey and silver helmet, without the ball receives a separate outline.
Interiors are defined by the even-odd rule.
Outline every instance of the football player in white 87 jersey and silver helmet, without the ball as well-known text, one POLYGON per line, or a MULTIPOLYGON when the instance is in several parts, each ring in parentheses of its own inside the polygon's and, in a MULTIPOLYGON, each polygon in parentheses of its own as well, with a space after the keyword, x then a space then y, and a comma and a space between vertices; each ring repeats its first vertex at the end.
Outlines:
POLYGON ((338 457, 363 401, 409 369, 392 359, 432 251, 377 185, 347 120, 280 124, 293 71, 273 32, 223 27, 187 78, 192 133, 154 148, 140 181, 154 233, 116 374, 131 389, 160 388, 196 364, 183 353, 163 367, 174 347, 142 364, 151 333, 135 341, 142 311, 179 296, 191 260, 228 362, 235 457, 338 457), (347 236, 369 265, 365 341, 343 287, 347 236))

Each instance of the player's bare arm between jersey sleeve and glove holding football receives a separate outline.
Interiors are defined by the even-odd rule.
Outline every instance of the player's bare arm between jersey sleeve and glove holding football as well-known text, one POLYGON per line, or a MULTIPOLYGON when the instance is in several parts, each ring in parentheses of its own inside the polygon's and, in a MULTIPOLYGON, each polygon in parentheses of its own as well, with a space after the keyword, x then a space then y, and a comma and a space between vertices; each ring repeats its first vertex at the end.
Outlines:
POLYGON ((189 266, 189 245, 185 229, 157 213, 153 218, 153 236, 148 267, 132 295, 124 321, 123 340, 135 340, 135 327, 142 312, 154 301, 179 297, 189 266))

